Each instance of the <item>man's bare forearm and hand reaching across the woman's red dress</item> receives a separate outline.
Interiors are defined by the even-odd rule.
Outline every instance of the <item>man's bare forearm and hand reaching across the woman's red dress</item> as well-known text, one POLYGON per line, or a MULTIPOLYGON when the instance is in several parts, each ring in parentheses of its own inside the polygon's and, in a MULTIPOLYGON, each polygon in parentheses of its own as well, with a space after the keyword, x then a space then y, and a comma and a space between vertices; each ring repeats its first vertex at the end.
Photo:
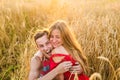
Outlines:
POLYGON ((58 74, 62 74, 66 71, 69 71, 69 68, 72 66, 72 63, 70 61, 62 62, 60 63, 55 69, 47 73, 45 76, 38 78, 38 80, 52 80, 54 79, 58 74))

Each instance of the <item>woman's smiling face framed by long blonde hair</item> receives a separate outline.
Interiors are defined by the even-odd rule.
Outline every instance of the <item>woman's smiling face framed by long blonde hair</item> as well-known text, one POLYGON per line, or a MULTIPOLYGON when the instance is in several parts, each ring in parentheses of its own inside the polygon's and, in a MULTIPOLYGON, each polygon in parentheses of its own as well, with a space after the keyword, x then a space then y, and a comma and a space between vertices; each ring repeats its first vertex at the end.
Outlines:
POLYGON ((59 47, 63 44, 60 31, 54 29, 50 34, 50 42, 54 48, 59 47))

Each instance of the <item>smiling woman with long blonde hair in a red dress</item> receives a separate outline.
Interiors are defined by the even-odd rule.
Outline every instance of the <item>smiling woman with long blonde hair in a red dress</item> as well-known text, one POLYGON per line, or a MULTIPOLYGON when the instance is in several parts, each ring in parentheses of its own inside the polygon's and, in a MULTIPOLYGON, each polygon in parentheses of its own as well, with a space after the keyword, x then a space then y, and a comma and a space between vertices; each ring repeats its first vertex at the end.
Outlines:
MULTIPOLYGON (((84 74, 84 72, 87 72, 88 67, 87 58, 67 24, 64 21, 56 21, 50 26, 49 30, 50 42, 54 47, 50 58, 50 69, 54 69, 59 63, 64 61, 71 61, 73 66, 76 62, 79 62, 83 72, 78 75, 77 80, 89 80, 84 74)), ((74 78, 75 74, 70 71, 58 77, 59 80, 74 80, 74 78)))

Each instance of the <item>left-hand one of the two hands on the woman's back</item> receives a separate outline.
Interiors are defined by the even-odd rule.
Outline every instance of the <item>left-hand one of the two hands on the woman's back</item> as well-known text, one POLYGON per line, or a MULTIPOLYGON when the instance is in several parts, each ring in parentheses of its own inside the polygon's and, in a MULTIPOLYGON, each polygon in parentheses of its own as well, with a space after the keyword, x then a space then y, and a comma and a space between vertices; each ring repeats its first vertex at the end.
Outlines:
POLYGON ((70 61, 65 61, 60 63, 56 69, 58 74, 64 73, 66 71, 69 71, 69 69, 72 67, 72 63, 70 61))

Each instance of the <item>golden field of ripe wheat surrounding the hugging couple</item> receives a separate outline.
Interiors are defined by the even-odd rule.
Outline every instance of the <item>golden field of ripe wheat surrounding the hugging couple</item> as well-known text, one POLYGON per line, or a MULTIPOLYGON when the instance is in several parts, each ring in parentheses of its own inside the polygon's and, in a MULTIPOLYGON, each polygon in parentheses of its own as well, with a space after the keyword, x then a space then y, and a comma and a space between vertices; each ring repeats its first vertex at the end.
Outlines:
POLYGON ((0 0, 0 80, 27 80, 33 35, 58 19, 76 34, 90 80, 120 80, 120 0, 0 0))

